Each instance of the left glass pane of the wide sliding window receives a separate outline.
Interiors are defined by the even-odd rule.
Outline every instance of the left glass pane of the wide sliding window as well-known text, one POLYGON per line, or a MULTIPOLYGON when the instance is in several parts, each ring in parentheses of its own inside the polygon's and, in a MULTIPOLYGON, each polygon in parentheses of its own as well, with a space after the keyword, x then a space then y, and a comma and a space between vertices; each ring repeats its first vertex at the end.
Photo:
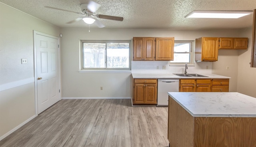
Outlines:
POLYGON ((106 68, 105 43, 84 43, 84 68, 106 68))

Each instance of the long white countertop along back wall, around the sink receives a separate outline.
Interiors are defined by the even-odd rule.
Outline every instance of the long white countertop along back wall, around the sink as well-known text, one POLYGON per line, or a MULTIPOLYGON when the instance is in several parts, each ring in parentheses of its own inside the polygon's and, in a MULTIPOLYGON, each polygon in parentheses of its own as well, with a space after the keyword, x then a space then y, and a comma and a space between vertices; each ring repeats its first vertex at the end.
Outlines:
MULTIPOLYGON (((193 74, 193 73, 188 73, 188 74, 193 74)), ((200 74, 200 73, 196 73, 200 74)), ((132 77, 135 78, 154 78, 154 79, 230 79, 231 77, 226 77, 222 75, 216 75, 216 74, 200 74, 200 75, 205 75, 208 77, 180 77, 178 75, 174 74, 132 74, 132 77)))

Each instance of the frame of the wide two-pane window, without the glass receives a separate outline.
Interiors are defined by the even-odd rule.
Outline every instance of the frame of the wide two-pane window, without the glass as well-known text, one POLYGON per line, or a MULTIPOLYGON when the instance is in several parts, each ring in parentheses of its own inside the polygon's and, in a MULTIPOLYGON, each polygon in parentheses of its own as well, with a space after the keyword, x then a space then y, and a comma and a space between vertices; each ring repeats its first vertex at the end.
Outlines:
POLYGON ((130 72, 132 57, 131 40, 80 40, 80 70, 79 72, 130 72), (106 68, 84 68, 84 43, 129 43, 129 68, 107 68, 107 48, 105 48, 105 65, 106 68))

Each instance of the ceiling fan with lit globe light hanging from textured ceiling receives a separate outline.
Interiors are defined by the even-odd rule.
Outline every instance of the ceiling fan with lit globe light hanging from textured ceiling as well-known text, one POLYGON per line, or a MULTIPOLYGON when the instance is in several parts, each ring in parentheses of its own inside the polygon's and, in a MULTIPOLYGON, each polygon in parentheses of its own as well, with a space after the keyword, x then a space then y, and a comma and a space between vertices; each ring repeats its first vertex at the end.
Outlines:
POLYGON ((86 24, 93 24, 94 23, 94 24, 96 24, 96 26, 98 26, 98 28, 104 28, 105 27, 104 24, 102 24, 98 20, 98 18, 107 19, 107 20, 117 20, 117 21, 123 21, 124 20, 123 17, 96 14, 95 12, 98 10, 98 8, 100 8, 100 4, 98 4, 98 3, 96 3, 92 0, 89 0, 88 3, 80 4, 80 8, 81 8, 82 12, 74 12, 74 11, 64 10, 64 9, 60 9, 60 8, 54 8, 54 7, 51 7, 51 6, 44 6, 44 7, 85 15, 85 16, 82 16, 82 17, 78 17, 75 20, 72 20, 70 22, 67 22, 67 24, 72 24, 74 22, 84 20, 84 22, 86 24))

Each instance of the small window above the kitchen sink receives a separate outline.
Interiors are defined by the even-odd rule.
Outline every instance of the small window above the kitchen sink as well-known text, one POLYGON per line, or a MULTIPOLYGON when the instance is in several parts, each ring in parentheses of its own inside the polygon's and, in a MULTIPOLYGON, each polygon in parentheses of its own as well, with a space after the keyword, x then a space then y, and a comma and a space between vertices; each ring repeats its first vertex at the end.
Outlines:
POLYGON ((170 65, 193 64, 192 41, 175 41, 174 42, 174 60, 170 65))

